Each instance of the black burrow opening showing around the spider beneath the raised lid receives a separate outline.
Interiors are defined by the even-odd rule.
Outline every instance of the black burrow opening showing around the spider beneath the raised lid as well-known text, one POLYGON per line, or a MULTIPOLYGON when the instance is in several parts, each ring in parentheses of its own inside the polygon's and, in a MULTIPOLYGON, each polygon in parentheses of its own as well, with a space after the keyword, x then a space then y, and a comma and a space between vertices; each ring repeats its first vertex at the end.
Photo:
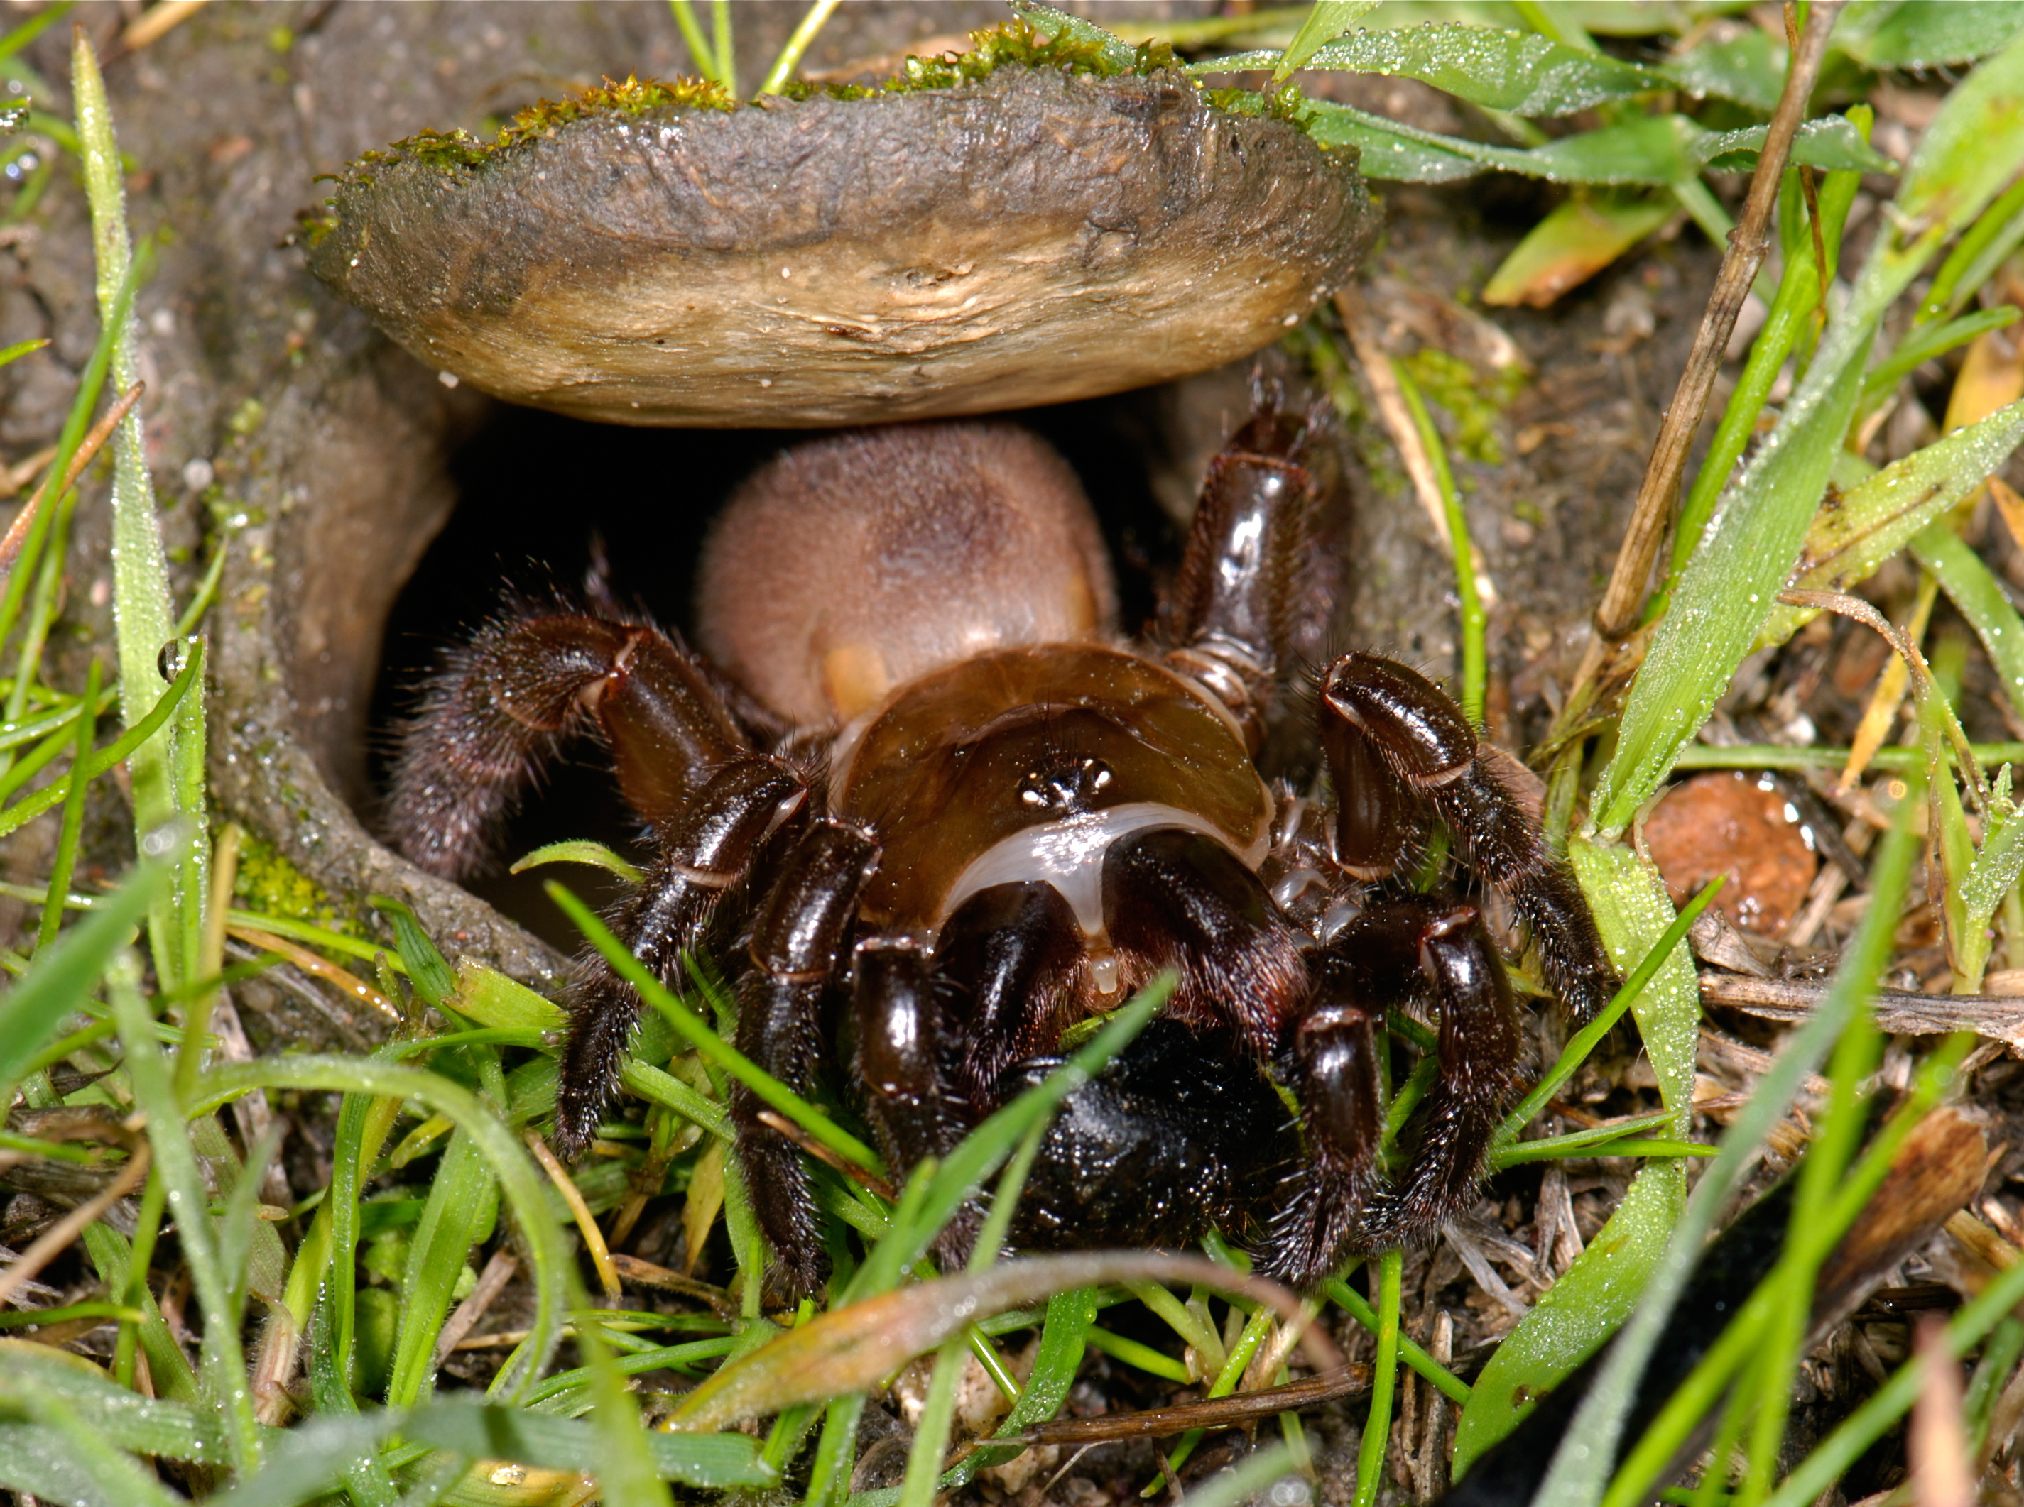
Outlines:
MULTIPOLYGON (((1249 364, 1008 415, 1046 437, 1081 477, 1111 548, 1127 631, 1154 611, 1160 579, 1178 560, 1178 518, 1192 506, 1208 455, 1241 423, 1247 388, 1249 364)), ((601 542, 617 597, 688 631, 710 518, 747 473, 808 437, 812 431, 621 429, 494 405, 451 457, 455 510, 387 619, 368 734, 374 795, 385 793, 393 730, 413 706, 417 682, 445 645, 498 609, 508 589, 577 593, 601 542)), ((364 815, 387 835, 376 811, 364 815)), ((468 888, 575 951, 575 928, 542 880, 563 878, 597 904, 617 894, 615 880, 585 866, 504 872, 506 862, 565 837, 595 837, 636 860, 644 856, 638 821, 591 742, 579 744, 522 807, 500 872, 468 888)))

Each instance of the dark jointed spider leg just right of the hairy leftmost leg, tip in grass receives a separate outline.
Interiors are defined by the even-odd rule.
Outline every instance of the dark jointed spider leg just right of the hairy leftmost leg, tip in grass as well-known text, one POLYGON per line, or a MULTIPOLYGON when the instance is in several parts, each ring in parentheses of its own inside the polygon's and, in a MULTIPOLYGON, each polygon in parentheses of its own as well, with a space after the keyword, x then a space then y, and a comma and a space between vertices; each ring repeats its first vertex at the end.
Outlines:
MULTIPOLYGON (((747 757, 716 771, 694 805, 660 829, 660 858, 611 920, 654 977, 674 979, 719 900, 745 880, 753 854, 806 795, 808 785, 787 765, 747 757)), ((569 1042, 555 1100, 555 1145, 563 1155, 591 1143, 638 1020, 638 991, 603 957, 587 957, 569 991, 569 1042)))

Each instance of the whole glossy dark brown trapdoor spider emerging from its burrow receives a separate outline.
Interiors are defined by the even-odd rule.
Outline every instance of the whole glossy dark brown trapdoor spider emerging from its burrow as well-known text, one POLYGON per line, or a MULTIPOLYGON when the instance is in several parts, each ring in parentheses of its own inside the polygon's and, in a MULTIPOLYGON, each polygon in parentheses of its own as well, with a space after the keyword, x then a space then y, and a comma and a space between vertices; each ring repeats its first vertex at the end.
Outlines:
MULTIPOLYGON (((597 728, 658 848, 619 937, 668 979, 712 947, 737 1044, 797 1090, 852 1042, 838 1066, 901 1169, 1174 969, 1162 1017, 1071 1096, 1014 1238, 1176 1244, 1214 1222, 1312 1287, 1467 1202, 1518 1084, 1475 906, 1388 882, 1435 817, 1577 1015, 1615 987, 1508 757, 1421 674, 1366 653, 1322 672, 1332 807, 1259 777, 1314 433, 1265 398, 1214 459, 1148 645, 1119 639, 1089 504, 1034 435, 802 443, 706 544, 708 657, 609 603, 500 617, 429 682, 391 829, 423 868, 466 874, 565 738, 597 728), (1439 1074, 1386 1181, 1376 1032, 1417 1001, 1439 1009, 1439 1074)), ((561 1149, 593 1137, 638 1009, 585 965, 561 1149)), ((731 1109, 783 1284, 808 1293, 826 1264, 808 1167, 751 1094, 731 1109)))

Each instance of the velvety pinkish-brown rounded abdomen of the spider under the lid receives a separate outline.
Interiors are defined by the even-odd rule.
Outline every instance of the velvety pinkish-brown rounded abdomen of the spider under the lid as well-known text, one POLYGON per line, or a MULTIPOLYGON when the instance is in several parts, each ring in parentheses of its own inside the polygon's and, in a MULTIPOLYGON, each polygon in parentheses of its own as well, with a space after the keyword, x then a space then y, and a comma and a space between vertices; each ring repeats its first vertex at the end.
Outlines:
POLYGON ((716 520, 698 603, 702 647, 806 726, 994 649, 1105 639, 1117 613, 1081 483, 1006 423, 795 445, 716 520))

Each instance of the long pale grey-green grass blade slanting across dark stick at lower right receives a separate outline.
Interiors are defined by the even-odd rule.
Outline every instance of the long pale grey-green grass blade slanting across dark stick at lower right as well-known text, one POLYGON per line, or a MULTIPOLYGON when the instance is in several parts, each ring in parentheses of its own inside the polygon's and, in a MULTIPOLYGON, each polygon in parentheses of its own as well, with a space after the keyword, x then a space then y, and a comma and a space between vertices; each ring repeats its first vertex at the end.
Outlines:
MULTIPOLYGON (((1907 799, 1905 811, 1909 813, 1917 805, 1917 799, 1907 799)), ((1534 1499, 1538 1507, 1593 1507, 1593 1503, 1603 1501, 1603 1489, 1615 1473, 1623 1418, 1652 1347, 1658 1343, 1660 1329, 1672 1315, 1722 1204, 1755 1165, 1771 1125, 1785 1113, 1805 1074, 1814 1072, 1828 1056, 1856 1011, 1858 999, 1874 987, 1896 930, 1896 906, 1911 878, 1917 839, 1903 823, 1884 839, 1870 876, 1870 910, 1836 973, 1834 987, 1811 1020, 1787 1038, 1771 1070, 1759 1080, 1757 1092, 1737 1115, 1728 1135, 1722 1137, 1720 1155, 1708 1165, 1688 1200, 1686 1212, 1674 1228, 1672 1246, 1658 1270, 1652 1272, 1635 1313, 1617 1335, 1609 1359, 1603 1361, 1595 1386, 1554 1452, 1546 1481, 1534 1499)))

